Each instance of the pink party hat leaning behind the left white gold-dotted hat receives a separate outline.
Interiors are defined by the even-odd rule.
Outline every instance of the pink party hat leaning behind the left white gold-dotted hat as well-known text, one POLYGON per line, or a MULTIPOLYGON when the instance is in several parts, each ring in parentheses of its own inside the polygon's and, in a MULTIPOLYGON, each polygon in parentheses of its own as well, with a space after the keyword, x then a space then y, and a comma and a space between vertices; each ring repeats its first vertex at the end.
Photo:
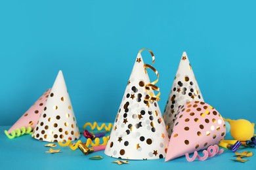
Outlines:
POLYGON ((11 133, 11 131, 15 131, 16 129, 20 129, 21 127, 32 127, 32 129, 35 128, 35 125, 37 124, 37 121, 39 119, 39 116, 45 107, 45 103, 47 101, 47 97, 49 96, 49 93, 51 92, 51 89, 48 89, 35 103, 28 109, 17 121, 15 124, 12 125, 12 127, 8 130, 8 133, 11 133))

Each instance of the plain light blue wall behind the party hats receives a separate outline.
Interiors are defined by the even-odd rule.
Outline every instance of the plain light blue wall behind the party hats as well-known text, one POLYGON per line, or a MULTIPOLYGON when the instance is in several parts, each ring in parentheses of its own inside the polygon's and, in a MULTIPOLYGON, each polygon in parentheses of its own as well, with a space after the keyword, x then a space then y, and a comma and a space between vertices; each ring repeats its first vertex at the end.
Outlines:
MULTIPOLYGON (((0 125, 62 69, 79 126, 114 122, 137 52, 150 48, 163 112, 183 51, 205 102, 255 122, 255 1, 1 1, 0 125)), ((150 62, 147 54, 144 61, 150 62)))

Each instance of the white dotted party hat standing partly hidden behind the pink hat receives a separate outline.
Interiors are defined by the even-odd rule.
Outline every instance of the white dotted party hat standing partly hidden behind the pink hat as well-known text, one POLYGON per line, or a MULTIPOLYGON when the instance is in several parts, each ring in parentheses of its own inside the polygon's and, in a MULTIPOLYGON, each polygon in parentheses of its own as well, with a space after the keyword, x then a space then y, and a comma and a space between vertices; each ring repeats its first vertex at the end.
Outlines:
POLYGON ((203 96, 200 92, 188 56, 186 55, 186 52, 183 52, 163 113, 163 120, 169 135, 171 135, 173 131, 173 124, 179 106, 184 105, 187 101, 203 101, 203 96))

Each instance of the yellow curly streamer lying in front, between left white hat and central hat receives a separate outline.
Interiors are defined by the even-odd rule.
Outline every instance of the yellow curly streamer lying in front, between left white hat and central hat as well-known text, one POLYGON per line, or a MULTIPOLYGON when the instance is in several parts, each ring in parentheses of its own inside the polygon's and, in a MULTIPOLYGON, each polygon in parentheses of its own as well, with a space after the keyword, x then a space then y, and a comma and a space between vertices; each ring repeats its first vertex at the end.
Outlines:
MULTIPOLYGON (((93 140, 87 139, 85 145, 86 145, 86 146, 89 146, 89 145, 91 145, 91 146, 106 145, 106 144, 108 143, 108 139, 109 139, 109 138, 110 138, 110 136, 102 137, 103 143, 100 143, 100 139, 99 139, 98 137, 96 137, 96 138, 94 139, 94 140, 95 140, 94 143, 93 143, 93 140)), ((83 143, 83 142, 82 142, 81 140, 78 140, 77 143, 74 143, 74 144, 71 143, 71 140, 68 140, 66 143, 58 142, 58 144, 59 144, 60 146, 63 146, 63 147, 64 147, 64 146, 70 146, 70 148, 71 148, 72 150, 76 150, 76 149, 78 148, 78 145, 79 145, 80 143, 83 143)))

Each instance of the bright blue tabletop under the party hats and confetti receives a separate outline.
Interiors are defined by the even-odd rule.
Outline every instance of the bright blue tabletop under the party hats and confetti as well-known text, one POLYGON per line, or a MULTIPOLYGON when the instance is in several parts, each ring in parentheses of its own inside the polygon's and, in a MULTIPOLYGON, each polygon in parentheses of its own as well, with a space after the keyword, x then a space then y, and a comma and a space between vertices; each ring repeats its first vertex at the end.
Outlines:
MULTIPOLYGON (((61 153, 47 154, 45 151, 49 148, 41 142, 33 139, 31 135, 24 135, 15 139, 9 139, 4 133, 9 126, 0 126, 0 169, 255 169, 256 156, 249 158, 245 163, 231 161, 234 153, 230 150, 224 150, 221 155, 208 158, 205 161, 188 162, 182 156, 172 161, 165 162, 159 160, 128 160, 129 164, 117 165, 112 163, 117 158, 111 158, 104 154, 104 151, 93 152, 87 156, 77 150, 71 150, 69 147, 61 147, 57 144, 54 149, 61 149, 61 153), (103 156, 102 160, 89 160, 91 156, 103 156)), ((230 139, 227 135, 225 139, 230 139)), ((82 139, 85 141, 85 139, 82 139)), ((256 153, 256 148, 245 148, 256 153)))

